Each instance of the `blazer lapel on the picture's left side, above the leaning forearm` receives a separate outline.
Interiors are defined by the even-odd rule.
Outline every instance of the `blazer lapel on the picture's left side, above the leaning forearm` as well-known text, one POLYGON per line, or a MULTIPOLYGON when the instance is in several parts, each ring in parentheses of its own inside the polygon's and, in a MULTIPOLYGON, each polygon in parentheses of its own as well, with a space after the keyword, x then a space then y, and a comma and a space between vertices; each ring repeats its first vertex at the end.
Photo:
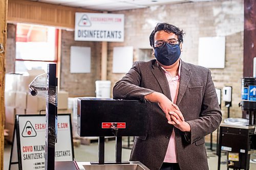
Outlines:
POLYGON ((170 97, 170 89, 169 89, 168 81, 166 79, 166 76, 165 76, 163 70, 158 65, 157 61, 155 61, 155 63, 153 64, 152 67, 153 67, 152 68, 152 73, 155 76, 155 78, 157 79, 157 82, 158 82, 163 94, 169 100, 172 100, 172 98, 170 97))

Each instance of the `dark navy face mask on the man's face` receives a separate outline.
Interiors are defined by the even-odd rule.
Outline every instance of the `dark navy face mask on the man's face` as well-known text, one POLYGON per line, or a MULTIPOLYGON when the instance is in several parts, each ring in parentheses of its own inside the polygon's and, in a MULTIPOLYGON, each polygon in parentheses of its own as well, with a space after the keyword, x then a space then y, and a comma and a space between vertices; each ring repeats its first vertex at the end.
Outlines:
POLYGON ((180 58, 180 53, 180 44, 165 43, 163 47, 155 47, 157 61, 166 66, 173 65, 180 58))

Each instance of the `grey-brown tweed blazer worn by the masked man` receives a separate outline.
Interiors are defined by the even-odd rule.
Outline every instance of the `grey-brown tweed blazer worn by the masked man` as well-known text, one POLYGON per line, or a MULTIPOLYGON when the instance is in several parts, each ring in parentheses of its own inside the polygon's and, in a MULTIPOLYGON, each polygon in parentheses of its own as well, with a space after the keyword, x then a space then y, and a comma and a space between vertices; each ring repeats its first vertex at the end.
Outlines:
MULTIPOLYGON (((152 170, 160 169, 175 130, 177 157, 181 170, 208 169, 204 136, 215 131, 222 120, 210 70, 181 61, 180 86, 176 104, 191 133, 167 124, 157 103, 148 108, 147 132, 135 137, 131 161, 140 161, 152 170)), ((167 79, 156 60, 135 62, 131 70, 113 88, 114 99, 142 100, 154 91, 171 100, 167 79)))

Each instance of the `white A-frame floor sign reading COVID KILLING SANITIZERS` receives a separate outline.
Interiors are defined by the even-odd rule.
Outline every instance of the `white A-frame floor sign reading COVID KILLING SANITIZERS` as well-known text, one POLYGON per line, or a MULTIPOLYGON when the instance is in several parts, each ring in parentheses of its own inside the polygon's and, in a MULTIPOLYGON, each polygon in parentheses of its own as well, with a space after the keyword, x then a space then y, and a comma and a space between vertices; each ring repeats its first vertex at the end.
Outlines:
MULTIPOLYGON (((22 169, 45 169, 45 115, 19 115, 18 130, 15 127, 11 155, 11 170, 21 163, 22 169), (19 135, 17 136, 16 135, 19 135), (17 148, 19 152, 17 153, 17 148), (18 156, 17 156, 18 154, 18 156), (16 160, 18 157, 18 161, 16 160), (15 159, 13 159, 15 158, 15 159)), ((55 144, 55 161, 72 161, 73 144, 70 114, 58 115, 58 142, 55 144)))

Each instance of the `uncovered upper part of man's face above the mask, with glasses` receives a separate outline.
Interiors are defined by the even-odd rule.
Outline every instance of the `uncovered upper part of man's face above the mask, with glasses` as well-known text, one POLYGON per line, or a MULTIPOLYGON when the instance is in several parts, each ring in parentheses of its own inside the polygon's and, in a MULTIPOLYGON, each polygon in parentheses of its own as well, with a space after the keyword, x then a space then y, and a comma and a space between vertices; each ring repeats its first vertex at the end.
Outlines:
MULTIPOLYGON (((156 47, 157 41, 169 41, 169 40, 178 40, 178 36, 174 33, 166 33, 165 31, 158 31, 154 36, 154 46, 156 47)), ((180 50, 182 51, 182 43, 180 43, 180 50)), ((155 49, 154 49, 155 51, 155 49)))

